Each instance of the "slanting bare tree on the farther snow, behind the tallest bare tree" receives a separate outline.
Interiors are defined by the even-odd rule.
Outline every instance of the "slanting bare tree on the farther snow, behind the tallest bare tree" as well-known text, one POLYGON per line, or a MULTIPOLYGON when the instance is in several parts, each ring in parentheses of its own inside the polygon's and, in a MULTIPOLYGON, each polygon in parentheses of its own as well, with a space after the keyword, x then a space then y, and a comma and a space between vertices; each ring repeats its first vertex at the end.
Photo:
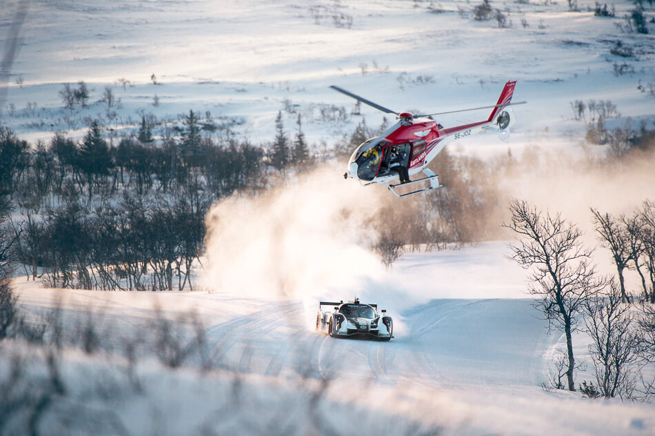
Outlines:
POLYGON ((621 298, 625 303, 630 301, 625 292, 625 279, 623 278, 623 270, 627 268, 629 261, 632 260, 629 232, 621 225, 620 220, 614 219, 609 213, 601 215, 601 212, 594 210, 594 208, 592 208, 592 213, 596 221, 596 232, 601 237, 601 243, 612 252, 612 259, 614 259, 616 273, 618 273, 618 284, 621 286, 621 298))

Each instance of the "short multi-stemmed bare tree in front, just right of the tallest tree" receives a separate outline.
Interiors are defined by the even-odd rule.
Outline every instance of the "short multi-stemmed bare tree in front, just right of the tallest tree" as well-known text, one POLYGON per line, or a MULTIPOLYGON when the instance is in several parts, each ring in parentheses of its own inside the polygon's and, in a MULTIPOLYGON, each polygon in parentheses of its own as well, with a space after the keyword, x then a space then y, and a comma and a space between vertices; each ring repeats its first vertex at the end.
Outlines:
POLYGON ((633 328, 634 313, 628 304, 622 304, 622 297, 612 280, 585 301, 585 324, 592 339, 589 352, 598 390, 605 398, 630 398, 634 391, 632 365, 639 359, 639 337, 633 328))

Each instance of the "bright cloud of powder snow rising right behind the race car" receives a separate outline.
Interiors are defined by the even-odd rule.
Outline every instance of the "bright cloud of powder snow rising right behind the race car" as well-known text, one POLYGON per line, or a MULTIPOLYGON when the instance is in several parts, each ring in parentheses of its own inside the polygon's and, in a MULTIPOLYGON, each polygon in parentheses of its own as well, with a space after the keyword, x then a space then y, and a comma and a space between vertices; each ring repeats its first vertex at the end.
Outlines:
POLYGON ((387 195, 330 168, 219 201, 205 219, 204 286, 249 297, 354 297, 385 274, 367 250, 375 237, 367 224, 387 195))

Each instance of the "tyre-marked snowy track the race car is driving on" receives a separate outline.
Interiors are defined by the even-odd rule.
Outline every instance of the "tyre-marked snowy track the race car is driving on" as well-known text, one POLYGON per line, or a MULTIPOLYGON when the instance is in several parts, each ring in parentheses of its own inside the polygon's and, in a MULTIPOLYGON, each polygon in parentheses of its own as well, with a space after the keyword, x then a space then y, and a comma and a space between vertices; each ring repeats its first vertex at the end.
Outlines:
POLYGON ((242 373, 513 390, 547 380, 558 340, 531 302, 433 300, 405 310, 403 333, 383 343, 332 339, 307 326, 300 301, 270 301, 207 337, 214 363, 242 373))

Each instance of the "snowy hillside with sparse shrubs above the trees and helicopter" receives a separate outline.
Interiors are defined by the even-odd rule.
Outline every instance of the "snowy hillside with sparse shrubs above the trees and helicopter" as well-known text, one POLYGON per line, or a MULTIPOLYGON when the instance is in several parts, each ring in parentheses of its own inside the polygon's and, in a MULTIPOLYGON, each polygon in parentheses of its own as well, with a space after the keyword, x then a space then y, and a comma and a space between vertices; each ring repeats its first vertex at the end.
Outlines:
MULTIPOLYGON (((3 8, 0 38, 17 3, 9 0, 3 8)), ((112 86, 121 108, 114 109, 119 119, 107 122, 118 130, 129 127, 130 117, 139 121, 143 111, 176 119, 193 109, 247 120, 239 132, 254 142, 273 136, 273 119, 285 108, 306 118, 311 141, 332 142, 352 131, 360 117, 335 123, 320 115, 321 105, 343 106, 350 114, 354 103, 329 90, 330 84, 396 110, 438 112, 493 103, 502 84, 516 79, 516 99, 530 102, 517 110, 519 137, 561 146, 575 143, 561 132, 581 129, 579 123, 562 124, 571 118, 574 99, 609 99, 624 116, 652 119, 652 99, 636 86, 654 80, 653 37, 616 26, 631 3, 616 4, 616 18, 599 18, 586 10, 593 1, 578 2, 582 12, 568 12, 566 3, 492 2, 512 21, 506 29, 493 20, 475 21, 472 6, 396 0, 32 1, 3 122, 30 137, 68 130, 57 92, 62 83, 79 80, 93 88, 92 101, 112 86), (639 57, 609 54, 618 39, 639 57), (615 77, 613 64, 623 62, 634 72, 615 77), (152 84, 152 74, 160 85, 152 84), (21 87, 14 82, 19 77, 21 87), (123 88, 119 79, 130 86, 123 88), (23 113, 29 102, 37 103, 37 115, 23 113), (41 120, 43 126, 31 124, 41 120)), ((369 126, 379 125, 382 114, 362 110, 369 126)), ((79 115, 107 118, 101 104, 79 115)), ((291 130, 295 115, 285 115, 291 130)), ((478 115, 441 121, 448 126, 471 117, 478 115)), ((467 144, 507 148, 495 137, 467 144)))

